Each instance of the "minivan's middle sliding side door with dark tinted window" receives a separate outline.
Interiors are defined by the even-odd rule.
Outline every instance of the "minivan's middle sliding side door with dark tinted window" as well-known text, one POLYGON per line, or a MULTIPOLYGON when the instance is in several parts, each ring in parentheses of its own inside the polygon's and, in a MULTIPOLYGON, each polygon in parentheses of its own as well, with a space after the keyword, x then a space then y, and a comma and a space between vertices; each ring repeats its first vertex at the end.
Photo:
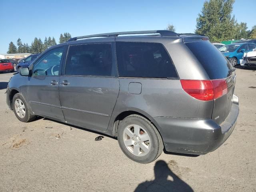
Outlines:
POLYGON ((69 47, 59 86, 67 122, 106 131, 119 93, 112 57, 111 43, 69 47))

